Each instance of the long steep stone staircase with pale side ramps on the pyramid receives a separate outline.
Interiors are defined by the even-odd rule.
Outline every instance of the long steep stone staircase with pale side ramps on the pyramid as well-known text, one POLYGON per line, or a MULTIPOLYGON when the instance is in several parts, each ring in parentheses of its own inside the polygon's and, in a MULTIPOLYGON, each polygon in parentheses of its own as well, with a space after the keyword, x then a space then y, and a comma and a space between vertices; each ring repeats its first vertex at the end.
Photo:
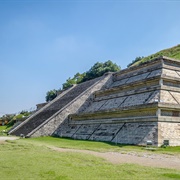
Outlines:
POLYGON ((85 108, 89 103, 88 99, 91 94, 105 87, 110 78, 111 74, 106 74, 100 78, 73 86, 10 130, 9 134, 25 137, 51 135, 70 113, 85 108))

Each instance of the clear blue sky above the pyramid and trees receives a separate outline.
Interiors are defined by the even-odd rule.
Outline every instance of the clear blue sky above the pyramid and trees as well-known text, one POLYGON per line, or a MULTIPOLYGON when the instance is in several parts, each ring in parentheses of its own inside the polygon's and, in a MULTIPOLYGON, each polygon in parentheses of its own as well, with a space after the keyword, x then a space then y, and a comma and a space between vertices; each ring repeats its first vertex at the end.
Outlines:
POLYGON ((180 1, 0 0, 0 116, 33 110, 69 77, 180 44, 180 1))

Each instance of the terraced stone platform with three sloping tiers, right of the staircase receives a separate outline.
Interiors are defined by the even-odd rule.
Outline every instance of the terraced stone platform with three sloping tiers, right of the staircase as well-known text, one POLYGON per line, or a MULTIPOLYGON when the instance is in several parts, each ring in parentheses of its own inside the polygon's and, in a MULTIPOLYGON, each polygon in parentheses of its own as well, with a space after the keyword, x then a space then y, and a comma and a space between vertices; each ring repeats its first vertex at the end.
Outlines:
POLYGON ((56 136, 122 144, 180 145, 180 62, 160 57, 112 74, 108 89, 71 114, 56 136))

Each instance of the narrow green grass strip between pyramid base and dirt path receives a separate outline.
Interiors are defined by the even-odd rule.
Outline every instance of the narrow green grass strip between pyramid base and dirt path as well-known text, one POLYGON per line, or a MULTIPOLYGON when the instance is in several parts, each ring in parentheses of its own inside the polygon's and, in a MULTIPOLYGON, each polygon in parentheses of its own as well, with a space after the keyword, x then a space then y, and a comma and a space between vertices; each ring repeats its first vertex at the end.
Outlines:
MULTIPOLYGON (((38 143, 44 145, 52 145, 61 148, 70 149, 85 149, 98 152, 107 151, 136 151, 136 152, 150 152, 145 147, 142 146, 132 146, 132 145, 121 145, 108 142, 95 142, 95 141, 84 141, 84 140, 74 140, 69 138, 55 138, 55 137, 40 137, 40 138, 30 138, 26 140, 31 143, 38 143)), ((166 154, 180 154, 180 146, 177 147, 160 147, 153 150, 155 153, 166 153, 166 154)))

